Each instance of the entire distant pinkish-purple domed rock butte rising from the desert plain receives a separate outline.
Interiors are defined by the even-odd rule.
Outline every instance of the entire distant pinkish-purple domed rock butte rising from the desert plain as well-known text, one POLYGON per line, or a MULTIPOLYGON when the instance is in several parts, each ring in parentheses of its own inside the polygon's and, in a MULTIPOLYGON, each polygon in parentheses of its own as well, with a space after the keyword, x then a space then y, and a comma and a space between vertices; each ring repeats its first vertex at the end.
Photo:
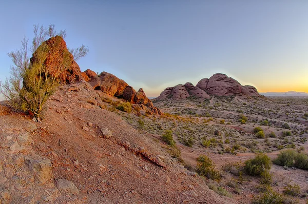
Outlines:
POLYGON ((253 86, 242 86, 237 80, 225 74, 217 73, 210 78, 201 79, 196 86, 191 83, 166 88, 157 100, 167 98, 181 99, 190 96, 197 98, 209 98, 214 96, 243 95, 247 97, 260 97, 257 89, 253 86))

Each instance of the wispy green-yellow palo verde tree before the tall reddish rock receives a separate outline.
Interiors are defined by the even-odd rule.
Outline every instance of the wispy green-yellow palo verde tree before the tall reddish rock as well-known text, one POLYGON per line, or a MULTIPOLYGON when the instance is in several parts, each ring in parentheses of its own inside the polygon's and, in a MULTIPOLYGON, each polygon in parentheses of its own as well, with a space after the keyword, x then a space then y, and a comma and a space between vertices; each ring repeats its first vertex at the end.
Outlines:
MULTIPOLYGON (((34 37, 31 46, 28 47, 28 39, 24 37, 21 48, 8 53, 14 65, 11 66, 10 78, 6 78, 5 83, 0 81, 0 93, 9 100, 13 107, 28 111, 33 114, 35 121, 41 121, 48 98, 60 84, 59 75, 69 63, 70 53, 64 53, 63 63, 54 67, 51 72, 44 64, 49 52, 45 41, 47 37, 56 35, 64 38, 66 31, 57 32, 54 25, 49 25, 47 29, 38 25, 34 25, 33 28, 34 37), (29 51, 35 57, 31 64, 29 51)), ((74 60, 78 60, 84 57, 89 49, 82 45, 69 51, 72 52, 74 60)))

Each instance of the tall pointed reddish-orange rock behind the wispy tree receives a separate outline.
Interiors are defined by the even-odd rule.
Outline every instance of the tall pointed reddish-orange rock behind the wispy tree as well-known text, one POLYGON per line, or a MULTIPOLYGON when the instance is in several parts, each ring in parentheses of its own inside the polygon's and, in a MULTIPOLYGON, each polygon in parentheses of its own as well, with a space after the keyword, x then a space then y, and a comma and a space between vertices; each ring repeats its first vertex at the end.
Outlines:
POLYGON ((46 40, 37 48, 30 59, 30 69, 35 64, 41 63, 39 56, 45 50, 48 50, 48 52, 43 64, 50 74, 55 75, 61 70, 58 78, 62 84, 75 83, 83 79, 80 68, 73 55, 68 51, 64 39, 58 35, 46 40))

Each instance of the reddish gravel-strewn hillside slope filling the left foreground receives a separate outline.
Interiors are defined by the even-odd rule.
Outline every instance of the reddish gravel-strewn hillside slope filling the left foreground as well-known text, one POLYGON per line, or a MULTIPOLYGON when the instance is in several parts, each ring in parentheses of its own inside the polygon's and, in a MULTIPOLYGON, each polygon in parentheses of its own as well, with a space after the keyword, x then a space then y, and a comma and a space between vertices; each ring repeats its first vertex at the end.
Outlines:
POLYGON ((104 107, 81 81, 51 97, 43 123, 2 104, 0 203, 234 203, 104 107))

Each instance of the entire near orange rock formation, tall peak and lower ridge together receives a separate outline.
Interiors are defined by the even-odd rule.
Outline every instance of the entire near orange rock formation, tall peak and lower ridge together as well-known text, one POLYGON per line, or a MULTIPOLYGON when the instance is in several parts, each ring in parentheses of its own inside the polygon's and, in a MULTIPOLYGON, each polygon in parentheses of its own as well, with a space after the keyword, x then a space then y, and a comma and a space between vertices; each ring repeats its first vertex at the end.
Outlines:
MULTIPOLYGON (((66 43, 61 36, 51 37, 43 44, 46 44, 49 48, 44 62, 49 72, 55 73, 59 67, 64 67, 64 70, 59 75, 62 84, 77 83, 83 79, 94 90, 100 90, 110 96, 123 98, 131 104, 140 105, 142 109, 148 109, 148 112, 151 114, 162 114, 160 109, 153 106, 152 101, 146 96, 142 88, 136 91, 124 80, 107 72, 102 72, 99 75, 90 69, 81 72, 79 65, 73 59, 73 55, 69 53, 66 43)), ((38 47, 38 49, 40 48, 42 46, 38 47)), ((33 53, 30 59, 30 68, 31 64, 37 60, 36 55, 37 51, 33 53)))

